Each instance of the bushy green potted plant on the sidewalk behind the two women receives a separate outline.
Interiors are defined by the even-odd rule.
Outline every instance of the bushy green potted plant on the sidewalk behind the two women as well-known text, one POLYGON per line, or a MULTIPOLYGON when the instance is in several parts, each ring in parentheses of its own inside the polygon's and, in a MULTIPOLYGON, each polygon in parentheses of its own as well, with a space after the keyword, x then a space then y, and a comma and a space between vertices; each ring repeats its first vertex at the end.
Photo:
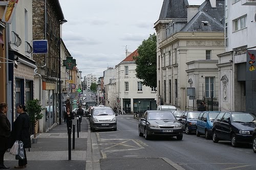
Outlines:
POLYGON ((42 108, 42 105, 40 105, 40 101, 38 99, 34 99, 31 101, 28 101, 26 103, 27 105, 27 110, 28 110, 28 114, 30 117, 30 122, 33 125, 33 130, 34 130, 34 138, 32 138, 32 142, 36 143, 36 133, 35 133, 35 126, 36 126, 36 122, 37 120, 41 119, 44 114, 41 113, 42 110, 44 110, 44 108, 42 108))

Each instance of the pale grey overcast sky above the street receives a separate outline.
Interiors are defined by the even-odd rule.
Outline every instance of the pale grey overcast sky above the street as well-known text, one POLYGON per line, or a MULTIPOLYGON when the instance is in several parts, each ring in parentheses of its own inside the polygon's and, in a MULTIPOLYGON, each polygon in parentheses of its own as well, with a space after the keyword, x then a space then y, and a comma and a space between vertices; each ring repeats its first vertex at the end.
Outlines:
MULTIPOLYGON (((128 52, 155 33, 163 0, 59 0, 68 22, 62 25, 62 39, 76 59, 82 77, 103 76, 128 52)), ((201 5, 203 0, 188 0, 201 5)))

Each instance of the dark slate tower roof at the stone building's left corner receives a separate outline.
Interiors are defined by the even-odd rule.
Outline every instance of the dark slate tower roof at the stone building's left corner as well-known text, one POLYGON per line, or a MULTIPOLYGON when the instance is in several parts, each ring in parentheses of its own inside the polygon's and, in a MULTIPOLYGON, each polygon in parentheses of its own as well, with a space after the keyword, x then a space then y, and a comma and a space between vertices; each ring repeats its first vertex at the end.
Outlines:
POLYGON ((164 0, 159 19, 187 18, 187 0, 164 0))

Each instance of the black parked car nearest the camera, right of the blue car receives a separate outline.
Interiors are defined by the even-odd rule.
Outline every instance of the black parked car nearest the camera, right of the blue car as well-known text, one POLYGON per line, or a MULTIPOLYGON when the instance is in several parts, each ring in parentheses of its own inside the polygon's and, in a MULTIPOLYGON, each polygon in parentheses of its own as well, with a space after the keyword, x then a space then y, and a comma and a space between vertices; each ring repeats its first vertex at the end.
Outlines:
POLYGON ((238 143, 251 143, 256 113, 250 112, 220 112, 212 127, 212 140, 230 140, 232 147, 238 143))

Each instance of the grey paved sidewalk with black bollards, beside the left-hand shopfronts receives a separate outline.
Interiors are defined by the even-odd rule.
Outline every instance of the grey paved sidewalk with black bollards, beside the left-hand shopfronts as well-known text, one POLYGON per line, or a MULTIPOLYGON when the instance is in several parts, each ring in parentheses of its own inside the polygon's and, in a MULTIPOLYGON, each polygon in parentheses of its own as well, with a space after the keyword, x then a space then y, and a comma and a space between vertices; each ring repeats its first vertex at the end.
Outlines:
MULTIPOLYGON (((73 120, 73 124, 75 124, 75 149, 73 149, 72 130, 71 160, 69 160, 68 152, 67 125, 62 123, 47 133, 37 134, 37 143, 32 143, 30 152, 26 149, 28 164, 24 169, 86 169, 88 149, 88 123, 86 117, 82 118, 79 138, 77 138, 76 118, 73 120)), ((15 160, 14 155, 6 152, 4 160, 6 166, 10 166, 10 169, 16 169, 14 166, 18 165, 18 160, 15 160)))

